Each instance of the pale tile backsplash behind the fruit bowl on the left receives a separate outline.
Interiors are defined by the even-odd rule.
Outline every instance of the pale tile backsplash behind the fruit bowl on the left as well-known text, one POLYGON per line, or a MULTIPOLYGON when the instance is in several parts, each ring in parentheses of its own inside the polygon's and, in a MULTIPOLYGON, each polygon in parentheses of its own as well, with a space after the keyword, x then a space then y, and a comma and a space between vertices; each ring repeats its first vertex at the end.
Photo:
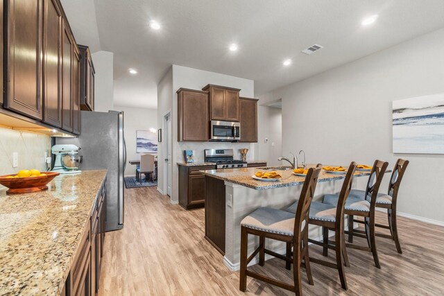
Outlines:
POLYGON ((30 168, 46 171, 45 152, 51 156, 51 137, 0 127, 0 175, 30 168), (12 153, 18 153, 17 168, 12 167, 12 153))

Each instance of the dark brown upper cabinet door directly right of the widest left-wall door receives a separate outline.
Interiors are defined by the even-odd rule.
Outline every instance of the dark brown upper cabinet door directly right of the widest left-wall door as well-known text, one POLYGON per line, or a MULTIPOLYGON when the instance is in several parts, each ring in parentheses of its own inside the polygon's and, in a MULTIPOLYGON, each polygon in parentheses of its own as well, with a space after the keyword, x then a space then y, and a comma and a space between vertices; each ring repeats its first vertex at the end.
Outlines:
POLYGON ((57 1, 44 1, 43 122, 62 128, 62 11, 57 1))

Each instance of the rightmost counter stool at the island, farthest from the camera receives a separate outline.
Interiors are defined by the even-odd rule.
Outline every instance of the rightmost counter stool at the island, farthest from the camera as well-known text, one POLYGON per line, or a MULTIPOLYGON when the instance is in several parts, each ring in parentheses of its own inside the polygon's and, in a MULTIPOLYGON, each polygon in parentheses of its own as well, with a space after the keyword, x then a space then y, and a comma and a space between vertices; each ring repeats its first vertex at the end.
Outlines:
MULTIPOLYGON (((398 226, 396 223, 396 204, 398 202, 398 191, 400 189, 400 184, 402 177, 404 177, 405 170, 409 165, 409 161, 405 159, 398 159, 391 173, 390 182, 388 183, 388 191, 385 193, 378 193, 376 198, 376 207, 387 210, 388 225, 382 225, 375 223, 375 227, 389 229, 390 235, 376 233, 376 236, 383 238, 390 238, 395 241, 396 250, 398 253, 402 254, 400 239, 398 237, 398 226)), ((355 196, 364 200, 366 191, 352 189, 350 191, 350 196, 355 196)))

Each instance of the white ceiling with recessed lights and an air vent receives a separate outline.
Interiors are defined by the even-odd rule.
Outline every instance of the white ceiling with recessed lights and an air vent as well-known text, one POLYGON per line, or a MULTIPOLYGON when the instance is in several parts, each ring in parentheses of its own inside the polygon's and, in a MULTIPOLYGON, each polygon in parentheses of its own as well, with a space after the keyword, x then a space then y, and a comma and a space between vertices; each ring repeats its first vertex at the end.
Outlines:
MULTIPOLYGON (((171 64, 255 80, 255 96, 444 27, 442 0, 62 0, 80 44, 114 53, 114 104, 157 107, 171 64), (368 15, 375 24, 361 26, 368 15), (155 19, 162 27, 149 28, 155 19), (228 46, 235 42, 239 50, 228 46), (305 55, 303 49, 324 49, 305 55), (289 67, 282 61, 292 59, 289 67), (137 69, 137 75, 128 73, 137 69)), ((210 83, 211 81, 209 81, 210 83)))

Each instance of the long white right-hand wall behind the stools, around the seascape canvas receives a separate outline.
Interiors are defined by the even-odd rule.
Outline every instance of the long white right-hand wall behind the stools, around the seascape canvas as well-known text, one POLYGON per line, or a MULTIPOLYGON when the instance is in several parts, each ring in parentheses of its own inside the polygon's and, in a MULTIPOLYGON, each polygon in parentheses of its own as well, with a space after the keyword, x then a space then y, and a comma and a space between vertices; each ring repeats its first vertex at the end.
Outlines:
POLYGON ((393 168, 409 159, 398 211, 444 223, 444 155, 394 155, 391 128, 392 101, 441 92, 444 29, 264 97, 282 98, 283 151, 304 149, 308 162, 323 164, 384 159, 393 168))

